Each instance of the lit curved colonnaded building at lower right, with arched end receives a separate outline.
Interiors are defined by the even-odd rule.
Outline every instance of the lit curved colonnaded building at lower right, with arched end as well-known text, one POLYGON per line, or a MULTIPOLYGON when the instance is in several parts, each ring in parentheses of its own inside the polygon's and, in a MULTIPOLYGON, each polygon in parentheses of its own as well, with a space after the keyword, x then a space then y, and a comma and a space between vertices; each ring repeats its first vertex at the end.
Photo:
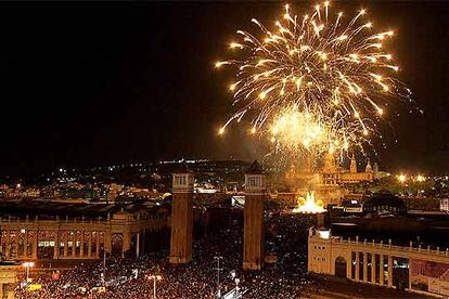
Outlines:
POLYGON ((394 246, 310 230, 308 271, 377 286, 449 296, 449 249, 394 246))

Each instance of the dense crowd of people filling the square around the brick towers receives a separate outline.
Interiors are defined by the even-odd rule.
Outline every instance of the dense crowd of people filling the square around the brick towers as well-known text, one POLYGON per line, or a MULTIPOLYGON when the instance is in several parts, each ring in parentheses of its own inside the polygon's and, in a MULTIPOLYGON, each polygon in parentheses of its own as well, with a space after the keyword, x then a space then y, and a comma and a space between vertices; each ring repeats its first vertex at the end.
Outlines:
POLYGON ((307 274, 307 231, 312 220, 295 216, 266 217, 266 247, 278 262, 268 263, 262 271, 242 270, 243 231, 241 221, 232 221, 218 232, 209 232, 194 243, 193 261, 187 265, 171 265, 168 252, 162 250, 140 258, 107 259, 104 292, 92 291, 103 286, 103 262, 80 264, 61 273, 57 280, 40 275, 35 282, 41 289, 17 289, 16 298, 152 298, 153 281, 157 281, 157 298, 215 298, 218 289, 217 263, 220 264, 221 295, 235 286, 230 274, 235 270, 239 289, 244 298, 299 298, 304 287, 313 287, 307 274))

